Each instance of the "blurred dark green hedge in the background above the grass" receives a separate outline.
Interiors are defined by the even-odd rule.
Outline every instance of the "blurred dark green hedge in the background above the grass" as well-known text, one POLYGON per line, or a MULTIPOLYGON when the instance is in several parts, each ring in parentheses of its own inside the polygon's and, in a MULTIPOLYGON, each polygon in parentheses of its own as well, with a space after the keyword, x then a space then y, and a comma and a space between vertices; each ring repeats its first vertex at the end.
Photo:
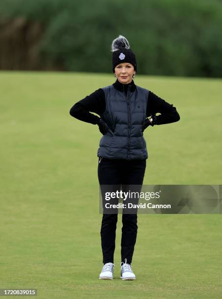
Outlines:
POLYGON ((220 0, 1 0, 0 15, 40 22, 42 59, 69 71, 111 72, 122 34, 140 74, 222 77, 220 0))

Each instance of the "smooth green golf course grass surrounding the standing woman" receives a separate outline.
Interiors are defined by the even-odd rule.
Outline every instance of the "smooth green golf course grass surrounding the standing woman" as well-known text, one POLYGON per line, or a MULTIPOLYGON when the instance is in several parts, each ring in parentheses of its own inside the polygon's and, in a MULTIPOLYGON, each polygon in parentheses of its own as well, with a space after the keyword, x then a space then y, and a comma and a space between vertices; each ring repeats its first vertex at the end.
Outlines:
MULTIPOLYGON (((221 298, 221 215, 139 214, 135 281, 101 281, 97 126, 69 115, 107 74, 0 72, 0 288, 38 298, 221 298), (145 269, 145 271, 144 271, 145 269)), ((221 184, 222 80, 138 76, 174 104, 145 131, 144 184, 221 184)))

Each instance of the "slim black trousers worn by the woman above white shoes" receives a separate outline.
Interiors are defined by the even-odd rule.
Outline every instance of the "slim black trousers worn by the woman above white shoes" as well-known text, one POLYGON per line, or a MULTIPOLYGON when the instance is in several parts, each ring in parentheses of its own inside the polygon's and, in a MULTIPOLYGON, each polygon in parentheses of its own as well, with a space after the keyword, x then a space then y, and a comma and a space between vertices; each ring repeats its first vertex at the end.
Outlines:
MULTIPOLYGON (((100 160, 101 158, 99 158, 100 160)), ((114 160, 102 158, 98 163, 100 185, 137 185, 140 192, 146 169, 146 160, 114 160)), ((113 263, 115 232, 118 214, 103 214, 101 245, 103 263, 113 263)), ((137 214, 122 214, 121 261, 131 264, 137 235, 137 214)))

